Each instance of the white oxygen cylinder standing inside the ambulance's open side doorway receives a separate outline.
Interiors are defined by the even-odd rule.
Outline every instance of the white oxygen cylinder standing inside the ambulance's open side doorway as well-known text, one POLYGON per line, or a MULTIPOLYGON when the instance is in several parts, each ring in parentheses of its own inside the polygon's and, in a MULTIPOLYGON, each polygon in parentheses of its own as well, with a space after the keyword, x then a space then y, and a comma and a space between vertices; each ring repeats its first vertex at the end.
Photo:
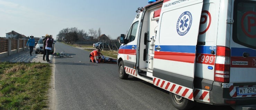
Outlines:
POLYGON ((155 42, 156 40, 154 39, 154 36, 152 36, 149 47, 149 69, 153 69, 153 59, 155 56, 155 42))

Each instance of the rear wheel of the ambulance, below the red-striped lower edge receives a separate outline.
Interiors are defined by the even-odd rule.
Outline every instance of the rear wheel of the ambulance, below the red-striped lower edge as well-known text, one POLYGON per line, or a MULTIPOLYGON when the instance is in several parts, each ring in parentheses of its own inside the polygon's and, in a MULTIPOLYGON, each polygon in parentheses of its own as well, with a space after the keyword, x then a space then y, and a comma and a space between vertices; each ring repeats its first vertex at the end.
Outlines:
POLYGON ((170 92, 171 104, 179 110, 190 110, 195 106, 195 101, 186 99, 170 92))

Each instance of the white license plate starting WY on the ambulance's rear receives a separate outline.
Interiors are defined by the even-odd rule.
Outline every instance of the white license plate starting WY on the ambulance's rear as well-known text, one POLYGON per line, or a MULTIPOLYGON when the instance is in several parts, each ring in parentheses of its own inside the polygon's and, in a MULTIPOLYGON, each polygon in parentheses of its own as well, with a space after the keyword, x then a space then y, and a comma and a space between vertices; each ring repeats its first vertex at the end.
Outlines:
POLYGON ((256 95, 256 87, 237 87, 237 95, 256 95))

